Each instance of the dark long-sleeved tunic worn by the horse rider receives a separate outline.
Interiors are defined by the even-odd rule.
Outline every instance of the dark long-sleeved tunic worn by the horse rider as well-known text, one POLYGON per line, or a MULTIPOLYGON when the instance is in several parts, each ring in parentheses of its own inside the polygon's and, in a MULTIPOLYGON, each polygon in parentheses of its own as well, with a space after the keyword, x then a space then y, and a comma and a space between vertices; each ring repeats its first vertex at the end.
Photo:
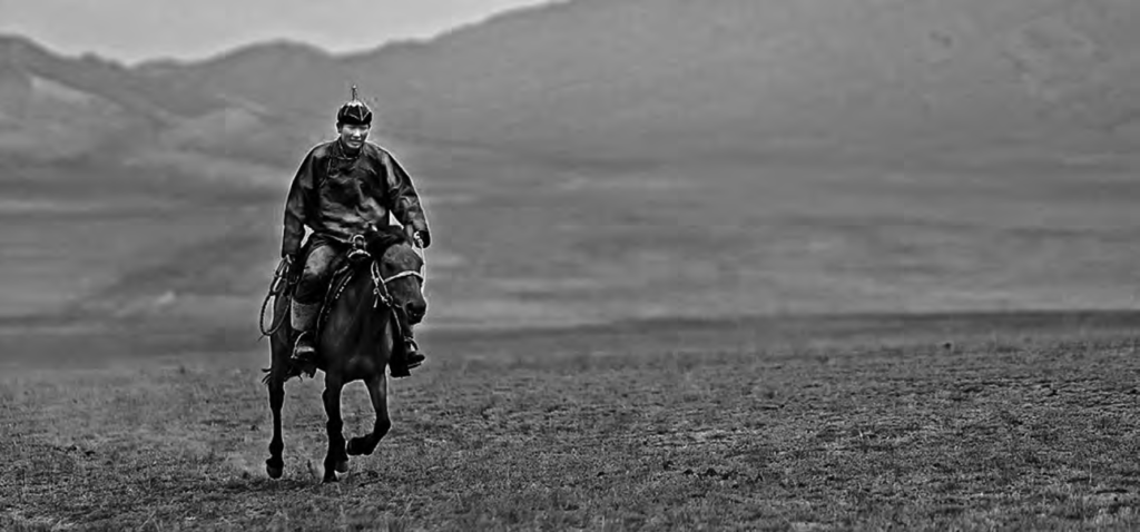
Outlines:
POLYGON ((368 224, 386 226, 392 213, 430 238, 427 219, 412 178, 384 148, 365 142, 355 156, 340 140, 318 145, 301 162, 285 204, 282 256, 296 254, 304 226, 348 243, 368 224))

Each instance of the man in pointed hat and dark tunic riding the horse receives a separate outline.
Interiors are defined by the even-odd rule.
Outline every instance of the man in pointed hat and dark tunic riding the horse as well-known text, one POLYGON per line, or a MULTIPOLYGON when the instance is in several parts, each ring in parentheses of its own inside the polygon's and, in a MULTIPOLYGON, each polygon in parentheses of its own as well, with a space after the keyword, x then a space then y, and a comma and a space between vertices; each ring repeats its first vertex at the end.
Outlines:
MULTIPOLYGON (((282 256, 291 269, 299 260, 304 261, 290 317, 299 332, 293 349, 295 362, 314 360, 312 329, 332 280, 332 264, 348 251, 353 235, 363 235, 368 226, 388 226, 391 213, 413 242, 423 247, 431 245, 427 220, 412 178, 385 149, 367 142, 370 129, 372 111, 357 99, 353 85, 352 99, 336 113, 339 138, 309 152, 290 188, 282 256), (298 257, 306 226, 312 230, 309 254, 298 257)), ((412 338, 410 327, 405 333, 410 369, 425 357, 412 338)))

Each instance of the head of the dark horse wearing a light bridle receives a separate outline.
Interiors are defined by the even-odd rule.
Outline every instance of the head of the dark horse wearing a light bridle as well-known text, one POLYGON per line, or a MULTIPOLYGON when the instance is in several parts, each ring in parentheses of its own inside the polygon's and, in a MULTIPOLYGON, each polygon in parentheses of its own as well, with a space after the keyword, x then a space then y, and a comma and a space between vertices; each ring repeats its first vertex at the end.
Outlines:
POLYGON ((402 229, 396 226, 372 228, 365 232, 365 249, 376 261, 377 288, 392 305, 402 309, 413 325, 427 313, 423 294, 424 260, 412 247, 402 229))

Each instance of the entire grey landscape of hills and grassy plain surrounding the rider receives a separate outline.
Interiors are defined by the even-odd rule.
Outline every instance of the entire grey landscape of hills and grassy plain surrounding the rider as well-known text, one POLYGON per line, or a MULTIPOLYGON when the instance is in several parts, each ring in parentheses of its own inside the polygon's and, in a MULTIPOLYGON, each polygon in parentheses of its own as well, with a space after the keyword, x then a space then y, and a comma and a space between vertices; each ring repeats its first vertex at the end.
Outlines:
POLYGON ((0 527, 1135 526, 1138 27, 571 0, 351 54, 0 36, 0 527), (291 384, 269 481, 258 309, 353 83, 432 220, 431 362, 332 488, 291 384))

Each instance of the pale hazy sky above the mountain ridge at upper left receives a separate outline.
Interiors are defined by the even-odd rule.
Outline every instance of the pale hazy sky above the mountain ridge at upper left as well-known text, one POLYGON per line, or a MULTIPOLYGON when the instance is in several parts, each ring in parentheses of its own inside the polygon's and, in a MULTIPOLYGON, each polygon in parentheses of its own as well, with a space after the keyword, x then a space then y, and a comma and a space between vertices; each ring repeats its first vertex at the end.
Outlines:
POLYGON ((288 39, 329 51, 426 38, 546 0, 0 0, 0 33, 67 55, 202 58, 288 39))

